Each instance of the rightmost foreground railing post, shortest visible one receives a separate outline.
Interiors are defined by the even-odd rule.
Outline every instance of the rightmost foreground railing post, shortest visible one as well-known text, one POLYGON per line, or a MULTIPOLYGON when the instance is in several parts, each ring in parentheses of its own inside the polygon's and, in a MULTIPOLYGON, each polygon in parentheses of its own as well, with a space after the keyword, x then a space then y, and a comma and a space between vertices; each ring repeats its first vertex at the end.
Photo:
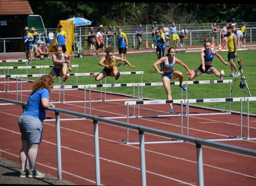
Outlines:
POLYGON ((204 185, 204 171, 203 171, 203 151, 202 145, 196 144, 197 148, 197 172, 198 172, 198 185, 204 185))

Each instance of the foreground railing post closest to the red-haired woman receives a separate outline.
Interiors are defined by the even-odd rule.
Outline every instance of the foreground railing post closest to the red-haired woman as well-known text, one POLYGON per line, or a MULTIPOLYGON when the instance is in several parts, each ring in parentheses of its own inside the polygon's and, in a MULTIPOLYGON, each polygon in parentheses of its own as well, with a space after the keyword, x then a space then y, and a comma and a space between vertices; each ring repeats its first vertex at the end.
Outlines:
POLYGON ((59 113, 55 112, 56 122, 56 145, 57 145, 57 166, 58 166, 58 180, 62 179, 62 166, 61 166, 61 143, 60 143, 60 120, 59 113))

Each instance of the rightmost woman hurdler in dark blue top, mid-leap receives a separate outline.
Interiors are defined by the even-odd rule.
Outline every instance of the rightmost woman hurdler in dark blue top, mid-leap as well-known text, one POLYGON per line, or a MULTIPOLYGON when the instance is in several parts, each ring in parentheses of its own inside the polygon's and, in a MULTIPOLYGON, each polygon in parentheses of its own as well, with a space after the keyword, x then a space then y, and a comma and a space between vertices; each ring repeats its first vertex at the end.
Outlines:
POLYGON ((187 72, 187 74, 191 74, 191 76, 188 78, 189 80, 193 80, 195 77, 207 73, 207 74, 215 74, 216 76, 220 77, 221 80, 223 80, 224 77, 224 71, 221 70, 221 73, 212 66, 212 60, 214 59, 214 55, 216 55, 224 65, 228 65, 229 63, 225 62, 223 58, 214 50, 211 49, 211 43, 209 41, 206 41, 204 43, 205 50, 201 52, 201 62, 202 64, 200 67, 194 70, 190 70, 187 72))

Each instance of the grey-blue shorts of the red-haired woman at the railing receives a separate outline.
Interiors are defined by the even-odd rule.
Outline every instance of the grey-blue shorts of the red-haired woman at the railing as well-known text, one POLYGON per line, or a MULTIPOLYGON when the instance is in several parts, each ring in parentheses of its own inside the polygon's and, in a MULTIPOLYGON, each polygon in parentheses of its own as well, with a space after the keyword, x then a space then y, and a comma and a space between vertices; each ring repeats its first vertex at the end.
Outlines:
POLYGON ((22 115, 18 119, 18 126, 22 134, 22 141, 41 143, 43 130, 42 120, 33 116, 22 115))

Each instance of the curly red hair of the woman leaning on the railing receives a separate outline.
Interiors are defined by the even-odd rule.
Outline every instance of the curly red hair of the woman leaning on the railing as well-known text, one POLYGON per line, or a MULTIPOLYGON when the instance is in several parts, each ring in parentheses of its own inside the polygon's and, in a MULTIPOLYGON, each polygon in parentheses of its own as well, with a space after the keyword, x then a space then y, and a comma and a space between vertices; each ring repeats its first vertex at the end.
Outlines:
POLYGON ((49 92, 51 92, 53 84, 53 78, 51 75, 42 75, 40 79, 37 79, 32 85, 32 91, 35 92, 38 89, 46 88, 49 92))

